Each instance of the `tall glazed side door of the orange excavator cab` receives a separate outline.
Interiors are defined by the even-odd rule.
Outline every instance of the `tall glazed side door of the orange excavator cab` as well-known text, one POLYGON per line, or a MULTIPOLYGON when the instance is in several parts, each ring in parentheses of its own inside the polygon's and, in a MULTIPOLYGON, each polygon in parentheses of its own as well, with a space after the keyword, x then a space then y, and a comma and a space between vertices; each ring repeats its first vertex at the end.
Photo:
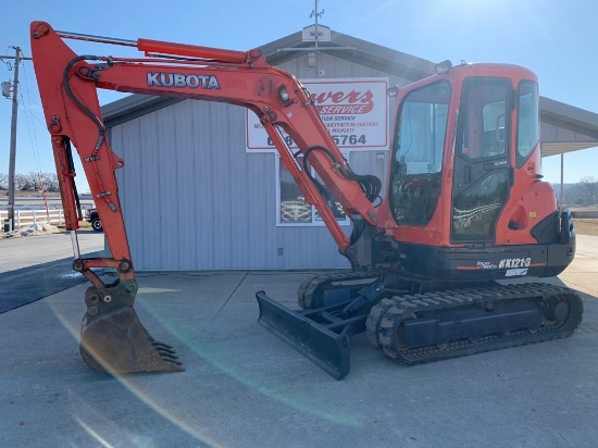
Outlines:
POLYGON ((511 90, 503 78, 463 83, 452 178, 454 244, 496 241, 510 189, 511 90))

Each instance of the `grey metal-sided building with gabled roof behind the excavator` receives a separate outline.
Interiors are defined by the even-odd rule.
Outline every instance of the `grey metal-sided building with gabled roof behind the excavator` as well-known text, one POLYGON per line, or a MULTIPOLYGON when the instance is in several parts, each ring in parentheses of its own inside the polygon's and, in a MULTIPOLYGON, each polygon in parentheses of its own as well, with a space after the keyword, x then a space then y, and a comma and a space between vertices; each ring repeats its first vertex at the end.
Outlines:
MULTIPOLYGON (((260 50, 301 80, 374 78, 403 86, 434 73, 429 61, 323 29, 329 41, 317 52, 308 51, 313 42, 306 30, 260 50)), ((389 100, 388 137, 393 107, 389 100)), ((540 107, 543 145, 551 153, 598 146, 597 114, 545 98, 540 107)), ((251 116, 245 109, 133 95, 102 112, 111 146, 126 163, 116 176, 137 270, 349 267, 314 211, 285 200, 290 187, 277 154, 247 149, 251 116)), ((387 157, 388 145, 347 151, 354 172, 381 179, 387 157)))

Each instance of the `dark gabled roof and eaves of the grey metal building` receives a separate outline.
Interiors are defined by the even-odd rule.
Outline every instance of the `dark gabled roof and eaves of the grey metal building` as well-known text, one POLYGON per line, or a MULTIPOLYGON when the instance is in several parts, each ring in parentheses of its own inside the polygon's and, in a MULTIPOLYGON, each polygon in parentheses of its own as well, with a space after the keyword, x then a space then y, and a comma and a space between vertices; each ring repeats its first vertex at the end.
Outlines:
MULTIPOLYGON (((328 28, 329 29, 329 28, 328 28)), ((297 32, 259 47, 271 65, 297 58, 314 48, 297 32)), ((342 33, 331 30, 331 41, 320 42, 319 51, 415 82, 435 73, 436 63, 393 50, 342 33)), ((102 107, 107 126, 164 108, 180 98, 132 95, 102 107)), ((553 155, 598 146, 598 114, 540 97, 543 155, 553 155)))

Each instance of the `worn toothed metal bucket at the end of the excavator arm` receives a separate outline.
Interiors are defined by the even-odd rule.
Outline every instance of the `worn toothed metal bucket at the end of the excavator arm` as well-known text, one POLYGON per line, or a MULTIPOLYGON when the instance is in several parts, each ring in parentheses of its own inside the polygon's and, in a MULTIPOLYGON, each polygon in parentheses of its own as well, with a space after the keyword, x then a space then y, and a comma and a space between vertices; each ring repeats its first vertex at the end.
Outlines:
POLYGON ((133 309, 136 293, 130 281, 87 289, 79 347, 84 362, 111 374, 184 371, 172 347, 154 340, 139 321, 133 309))

